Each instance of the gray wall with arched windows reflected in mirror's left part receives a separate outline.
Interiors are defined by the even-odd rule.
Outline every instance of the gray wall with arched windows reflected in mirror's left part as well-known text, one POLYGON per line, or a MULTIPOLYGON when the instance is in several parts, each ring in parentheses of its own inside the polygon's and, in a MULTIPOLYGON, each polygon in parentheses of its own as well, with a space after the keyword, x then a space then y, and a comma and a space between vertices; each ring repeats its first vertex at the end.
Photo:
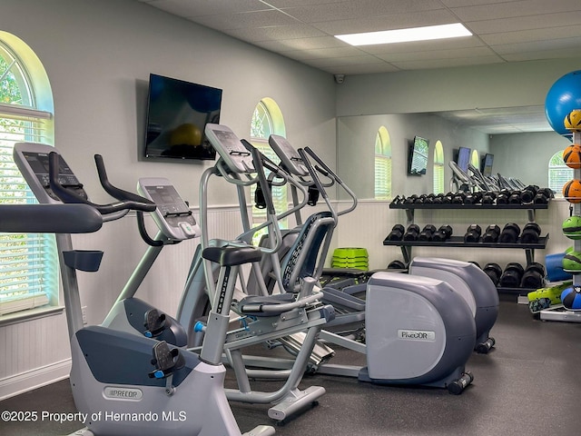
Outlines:
MULTIPOLYGON (((391 192, 393 196, 433 192, 434 147, 439 140, 444 148, 445 192, 452 176, 448 161, 454 149, 465 146, 488 152, 487 134, 474 129, 458 127, 432 114, 391 114, 341 116, 337 120, 338 171, 341 177, 361 199, 374 198, 375 138, 384 125, 391 140, 391 192), (428 170, 425 175, 408 175, 409 142, 415 135, 429 140, 428 170)), ((341 195, 340 198, 344 198, 341 195)))

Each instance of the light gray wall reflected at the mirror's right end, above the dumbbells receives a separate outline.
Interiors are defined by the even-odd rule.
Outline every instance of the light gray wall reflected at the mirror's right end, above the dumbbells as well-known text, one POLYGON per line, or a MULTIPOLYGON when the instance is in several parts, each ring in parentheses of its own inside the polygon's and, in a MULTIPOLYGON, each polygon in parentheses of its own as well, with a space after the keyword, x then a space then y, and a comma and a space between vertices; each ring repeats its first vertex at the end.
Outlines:
POLYGON ((548 161, 571 142, 556 132, 490 136, 493 173, 517 177, 523 183, 548 186, 548 161))

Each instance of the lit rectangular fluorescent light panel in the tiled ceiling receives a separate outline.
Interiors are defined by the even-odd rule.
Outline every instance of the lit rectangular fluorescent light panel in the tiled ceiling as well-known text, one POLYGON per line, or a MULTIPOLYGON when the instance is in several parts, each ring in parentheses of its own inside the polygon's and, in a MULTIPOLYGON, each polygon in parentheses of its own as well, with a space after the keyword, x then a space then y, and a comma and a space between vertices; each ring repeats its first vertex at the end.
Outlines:
POLYGON ((459 36, 470 35, 472 34, 466 27, 456 23, 453 25, 428 25, 409 29, 366 32, 364 34, 335 35, 335 37, 350 45, 375 45, 458 38, 459 36))

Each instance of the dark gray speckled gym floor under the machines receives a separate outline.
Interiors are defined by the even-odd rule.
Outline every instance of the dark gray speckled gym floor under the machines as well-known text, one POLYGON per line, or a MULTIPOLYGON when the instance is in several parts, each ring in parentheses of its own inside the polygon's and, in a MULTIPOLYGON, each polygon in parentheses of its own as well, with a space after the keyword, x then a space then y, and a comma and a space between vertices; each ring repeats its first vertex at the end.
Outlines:
MULTIPOLYGON (((491 335, 497 345, 486 355, 472 355, 467 370, 475 381, 461 395, 310 375, 301 387, 320 385, 327 393, 317 406, 277 426, 276 432, 288 436, 580 434, 581 324, 539 321, 526 305, 505 296, 491 335)), ((335 350, 338 362, 364 364, 360 355, 335 350)), ((261 382, 257 389, 276 389, 274 383, 261 382)), ((241 431, 273 424, 268 406, 232 403, 231 408, 241 431)), ((0 401, 0 411, 74 412, 75 408, 65 380, 0 401)), ((79 427, 70 421, 0 421, 0 435, 63 435, 79 427)))

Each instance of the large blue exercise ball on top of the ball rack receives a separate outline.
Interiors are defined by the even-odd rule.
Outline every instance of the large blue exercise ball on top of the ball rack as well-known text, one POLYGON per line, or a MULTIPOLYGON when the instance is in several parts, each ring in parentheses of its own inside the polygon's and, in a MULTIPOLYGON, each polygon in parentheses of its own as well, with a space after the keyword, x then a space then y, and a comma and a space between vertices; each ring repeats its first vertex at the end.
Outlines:
POLYGON ((560 77, 548 90, 545 99, 548 124, 557 134, 571 134, 563 121, 574 109, 581 109, 581 70, 560 77))

